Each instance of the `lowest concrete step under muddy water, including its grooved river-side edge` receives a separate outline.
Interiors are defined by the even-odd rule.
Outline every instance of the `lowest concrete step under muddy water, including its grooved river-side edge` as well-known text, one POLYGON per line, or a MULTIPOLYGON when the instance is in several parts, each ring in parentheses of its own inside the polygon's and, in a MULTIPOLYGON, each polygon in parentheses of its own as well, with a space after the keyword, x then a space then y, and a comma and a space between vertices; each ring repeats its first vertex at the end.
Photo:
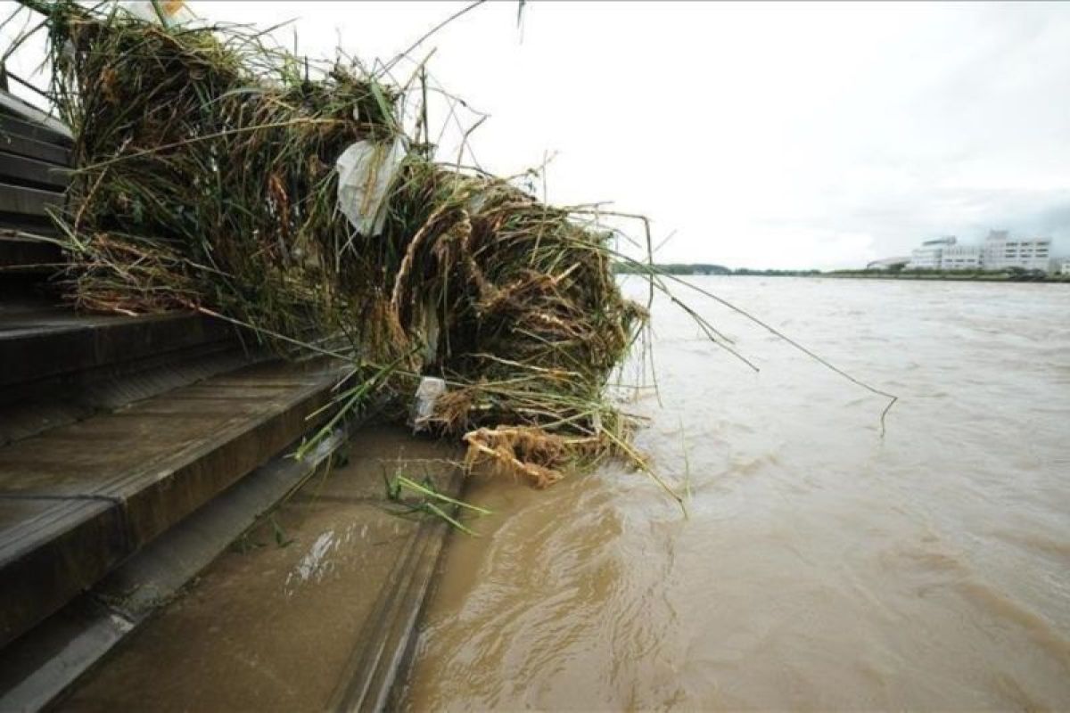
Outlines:
MULTIPOLYGON (((102 644, 85 641, 103 648, 123 639, 68 686, 54 710, 398 708, 392 696, 403 682, 419 613, 450 530, 438 518, 399 516, 398 507, 386 499, 383 476, 430 479, 438 490, 456 495, 462 480, 456 459, 462 451, 456 444, 414 438, 389 425, 360 429, 346 449, 347 460, 321 469, 289 494, 285 505, 262 517, 173 599, 166 585, 157 591, 153 599, 163 594, 165 603, 148 620, 127 614, 132 600, 135 613, 141 610, 137 602, 152 593, 144 587, 139 591, 121 584, 111 595, 98 598, 121 625, 137 625, 136 632, 127 635, 111 623, 97 630, 102 644)), ((235 487, 260 477, 254 474, 235 487)), ((232 492, 157 542, 198 521, 232 492)), ((154 549, 156 543, 142 554, 154 549)), ((164 563, 180 559, 179 552, 170 549, 164 563)), ((102 586, 112 580, 109 575, 102 586)), ((83 616, 71 614, 68 621, 83 616)), ((0 657, 0 710, 42 700, 33 691, 48 691, 51 686, 43 684, 65 673, 66 665, 77 666, 75 654, 81 649, 72 646, 63 663, 27 666, 22 662, 35 657, 20 644, 12 651, 17 656, 0 657), (9 667, 33 668, 34 680, 24 678, 4 695, 9 667)))

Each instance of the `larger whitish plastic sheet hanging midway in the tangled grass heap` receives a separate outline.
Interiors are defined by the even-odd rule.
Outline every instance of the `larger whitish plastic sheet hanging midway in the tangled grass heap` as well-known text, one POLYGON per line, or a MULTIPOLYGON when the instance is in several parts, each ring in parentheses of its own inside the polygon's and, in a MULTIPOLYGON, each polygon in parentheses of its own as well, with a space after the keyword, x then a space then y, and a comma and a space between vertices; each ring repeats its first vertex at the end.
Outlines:
POLYGON ((386 190, 409 152, 403 137, 389 143, 357 141, 335 161, 338 210, 362 235, 378 235, 386 221, 386 190))

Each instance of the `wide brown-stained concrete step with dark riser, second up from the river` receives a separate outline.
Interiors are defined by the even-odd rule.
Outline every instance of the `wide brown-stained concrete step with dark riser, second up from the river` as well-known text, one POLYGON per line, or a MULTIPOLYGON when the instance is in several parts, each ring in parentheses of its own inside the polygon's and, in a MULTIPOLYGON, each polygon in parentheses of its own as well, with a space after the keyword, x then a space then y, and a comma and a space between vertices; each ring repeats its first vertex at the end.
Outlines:
POLYGON ((307 433, 338 376, 254 365, 0 448, 0 647, 307 433))

